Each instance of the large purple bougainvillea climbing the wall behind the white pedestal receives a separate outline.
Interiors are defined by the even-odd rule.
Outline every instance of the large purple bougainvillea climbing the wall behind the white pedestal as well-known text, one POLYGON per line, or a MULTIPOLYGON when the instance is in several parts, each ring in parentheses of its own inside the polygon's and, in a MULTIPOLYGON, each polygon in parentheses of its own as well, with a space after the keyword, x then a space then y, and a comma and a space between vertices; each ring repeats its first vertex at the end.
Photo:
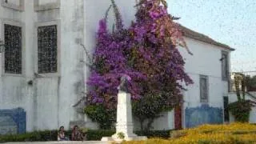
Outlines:
POLYGON ((167 13, 166 1, 141 0, 136 20, 128 28, 123 27, 118 7, 111 2, 116 29, 111 33, 107 30, 106 18, 99 22, 86 104, 106 107, 114 119, 117 87, 122 74, 127 74, 132 79, 129 90, 135 116, 142 116, 140 121, 155 118, 182 102, 182 83, 193 83, 177 49, 186 43, 178 24, 167 13), (150 106, 152 102, 158 106, 150 106))

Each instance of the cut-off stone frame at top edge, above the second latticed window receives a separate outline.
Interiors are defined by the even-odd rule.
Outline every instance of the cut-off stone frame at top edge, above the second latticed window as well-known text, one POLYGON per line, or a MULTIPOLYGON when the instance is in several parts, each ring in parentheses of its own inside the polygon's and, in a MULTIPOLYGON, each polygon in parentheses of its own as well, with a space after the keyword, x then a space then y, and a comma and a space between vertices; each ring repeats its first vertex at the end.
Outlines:
POLYGON ((34 10, 35 11, 59 9, 60 6, 61 6, 60 0, 57 0, 57 2, 50 2, 50 3, 44 4, 44 5, 39 5, 39 0, 34 0, 34 10))

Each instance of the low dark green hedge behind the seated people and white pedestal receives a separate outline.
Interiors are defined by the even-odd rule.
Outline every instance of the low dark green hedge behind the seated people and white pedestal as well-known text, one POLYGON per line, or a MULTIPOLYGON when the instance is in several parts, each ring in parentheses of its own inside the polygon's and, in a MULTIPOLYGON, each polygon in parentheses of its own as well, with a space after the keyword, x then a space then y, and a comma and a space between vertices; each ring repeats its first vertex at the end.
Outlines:
MULTIPOLYGON (((86 138, 88 141, 100 141, 102 137, 110 137, 114 133, 114 130, 88 130, 86 138)), ((135 131, 134 133, 148 138, 169 138, 170 136, 170 130, 135 131)), ((57 141, 57 134, 57 130, 45 130, 26 134, 0 135, 0 142, 57 141)), ((67 130, 65 134, 71 136, 71 130, 67 130)))

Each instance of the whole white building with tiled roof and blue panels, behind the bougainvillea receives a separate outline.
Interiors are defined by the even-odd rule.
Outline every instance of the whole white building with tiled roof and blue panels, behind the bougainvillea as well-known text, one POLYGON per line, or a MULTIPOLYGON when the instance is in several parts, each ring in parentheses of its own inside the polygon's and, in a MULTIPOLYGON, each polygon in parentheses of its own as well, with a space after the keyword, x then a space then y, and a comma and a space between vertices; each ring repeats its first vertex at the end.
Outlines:
MULTIPOLYGON (((135 0, 116 2, 129 26, 135 0)), ((6 51, 0 54, 0 117, 12 118, 19 133, 70 127, 75 122, 94 127, 72 105, 82 97, 88 77, 81 44, 94 48, 98 21, 109 6, 109 0, 2 0, 0 38, 6 51)), ((112 13, 109 22, 111 27, 112 13)), ((233 49, 185 27, 182 30, 194 54, 180 48, 194 85, 184 92, 182 113, 176 110, 176 127, 223 122, 233 49)), ((154 122, 154 129, 173 129, 174 119, 174 112, 166 113, 154 122)))

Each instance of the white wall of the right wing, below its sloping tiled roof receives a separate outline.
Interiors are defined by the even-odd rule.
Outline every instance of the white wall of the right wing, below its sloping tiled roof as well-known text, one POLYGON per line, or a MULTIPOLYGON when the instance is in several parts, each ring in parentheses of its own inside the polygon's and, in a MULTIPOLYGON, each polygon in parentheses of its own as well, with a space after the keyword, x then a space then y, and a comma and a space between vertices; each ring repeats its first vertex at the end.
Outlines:
MULTIPOLYGON (((209 105, 214 107, 223 107, 223 96, 228 94, 228 84, 222 81, 222 64, 219 59, 222 57, 222 49, 205 42, 200 42, 191 38, 185 38, 186 44, 194 55, 190 55, 182 47, 179 51, 185 59, 186 73, 193 79, 194 84, 185 86, 187 91, 183 92, 184 105, 182 110, 182 125, 185 127, 185 109, 186 107, 201 106, 200 103, 200 74, 209 77, 209 105)), ((173 110, 174 111, 174 110, 173 110)), ((163 130, 165 126, 174 128, 174 112, 158 118, 154 122, 154 129, 163 130), (169 116, 169 118, 167 118, 169 116), (173 125, 171 125, 172 123, 173 125)))

